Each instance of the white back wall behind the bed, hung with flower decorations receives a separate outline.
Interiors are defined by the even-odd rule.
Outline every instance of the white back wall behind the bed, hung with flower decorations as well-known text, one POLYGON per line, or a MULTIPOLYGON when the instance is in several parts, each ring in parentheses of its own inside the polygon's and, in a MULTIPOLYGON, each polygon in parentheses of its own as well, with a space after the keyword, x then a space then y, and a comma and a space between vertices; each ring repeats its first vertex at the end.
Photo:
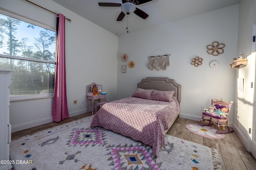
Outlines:
MULTIPOLYGON (((236 70, 230 63, 237 56, 238 10, 239 5, 234 5, 119 36, 118 98, 131 96, 143 78, 169 77, 181 85, 180 117, 199 121, 201 105, 209 107, 211 98, 234 101, 236 70), (214 41, 226 45, 223 54, 207 53, 206 46, 214 41), (126 62, 120 59, 123 53, 128 55, 126 62), (166 71, 148 69, 148 56, 166 53, 170 54, 166 71), (190 64, 196 56, 203 58, 201 66, 190 64), (135 63, 132 69, 130 60, 135 63), (209 67, 213 60, 220 62, 219 68, 209 67), (121 73, 121 65, 127 65, 126 73, 121 73)), ((230 113, 232 126, 234 109, 230 113)))

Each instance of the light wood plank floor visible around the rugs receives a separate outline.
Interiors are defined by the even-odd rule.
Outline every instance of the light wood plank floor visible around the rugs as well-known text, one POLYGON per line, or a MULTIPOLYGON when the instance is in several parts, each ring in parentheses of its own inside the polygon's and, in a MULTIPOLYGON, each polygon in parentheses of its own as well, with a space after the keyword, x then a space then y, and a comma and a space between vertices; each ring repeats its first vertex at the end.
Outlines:
MULTIPOLYGON (((63 123, 74 121, 76 119, 81 119, 86 116, 90 116, 91 113, 84 113, 75 117, 70 117, 64 119, 60 123, 47 123, 45 125, 40 125, 38 127, 28 128, 18 132, 12 133, 12 140, 20 138, 28 134, 34 134, 40 130, 51 128, 63 123)), ((198 136, 186 129, 186 125, 191 123, 198 123, 198 121, 193 121, 189 119, 184 119, 178 117, 167 134, 172 136, 182 138, 184 140, 189 140, 210 148, 215 148, 220 152, 222 158, 222 168, 223 170, 255 170, 256 160, 250 152, 246 150, 241 140, 238 138, 236 132, 225 134, 225 138, 222 139, 210 139, 202 136, 198 136)), ((216 127, 215 127, 216 128, 216 127)))

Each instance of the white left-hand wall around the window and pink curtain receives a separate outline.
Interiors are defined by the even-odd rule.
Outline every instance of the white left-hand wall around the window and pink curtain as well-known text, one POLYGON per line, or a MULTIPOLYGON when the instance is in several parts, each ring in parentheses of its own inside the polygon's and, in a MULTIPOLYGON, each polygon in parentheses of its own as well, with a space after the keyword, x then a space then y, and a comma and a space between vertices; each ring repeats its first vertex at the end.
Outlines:
MULTIPOLYGON (((92 82, 103 85, 107 101, 116 99, 118 37, 51 0, 31 0, 66 20, 66 86, 70 116, 87 112, 92 82), (74 105, 73 101, 77 100, 74 105), (84 100, 84 104, 82 103, 84 100)), ((1 0, 0 7, 56 28, 56 15, 24 0, 1 0)), ((52 122, 52 98, 10 103, 12 132, 52 122)))

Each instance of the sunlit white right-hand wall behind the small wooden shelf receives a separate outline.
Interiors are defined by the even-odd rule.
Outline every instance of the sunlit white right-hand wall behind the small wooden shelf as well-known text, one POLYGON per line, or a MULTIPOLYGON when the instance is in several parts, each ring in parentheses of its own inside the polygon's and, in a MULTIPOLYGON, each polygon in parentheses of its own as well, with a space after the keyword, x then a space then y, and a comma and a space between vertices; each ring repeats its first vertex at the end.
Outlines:
MULTIPOLYGON (((238 49, 237 53, 244 53, 248 59, 248 65, 237 70, 236 78, 244 79, 244 95, 236 94, 236 110, 234 113, 234 128, 236 133, 250 151, 250 140, 252 134, 249 134, 249 128, 254 133, 253 113, 255 112, 255 65, 256 55, 255 42, 252 42, 252 36, 256 35, 256 0, 240 0, 239 8, 239 27, 238 27, 238 49), (253 30, 255 27, 255 30, 253 30), (254 84, 250 88, 251 82, 254 84)), ((254 113, 255 115, 255 113, 254 113)), ((255 136, 254 136, 255 137, 255 136)))

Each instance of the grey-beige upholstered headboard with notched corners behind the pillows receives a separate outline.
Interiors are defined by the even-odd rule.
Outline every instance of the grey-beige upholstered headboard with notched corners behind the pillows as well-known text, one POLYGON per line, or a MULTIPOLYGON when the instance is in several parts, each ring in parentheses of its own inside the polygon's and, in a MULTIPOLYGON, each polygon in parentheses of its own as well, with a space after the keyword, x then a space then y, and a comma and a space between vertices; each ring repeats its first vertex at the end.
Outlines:
POLYGON ((138 83, 138 88, 155 89, 159 91, 175 91, 173 96, 180 102, 181 85, 178 85, 174 79, 168 77, 147 77, 138 83))

